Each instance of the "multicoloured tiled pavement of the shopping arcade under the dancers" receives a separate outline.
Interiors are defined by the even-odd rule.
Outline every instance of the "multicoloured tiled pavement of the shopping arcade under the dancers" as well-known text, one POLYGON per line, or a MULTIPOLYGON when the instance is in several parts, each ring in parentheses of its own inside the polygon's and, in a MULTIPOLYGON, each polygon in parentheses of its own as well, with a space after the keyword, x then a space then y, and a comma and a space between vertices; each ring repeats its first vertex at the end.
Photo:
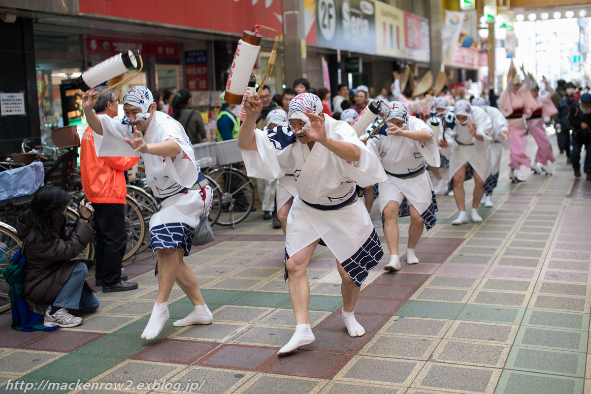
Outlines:
MULTIPOLYGON (((99 293, 99 311, 79 327, 21 333, 1 315, 0 385, 80 379, 133 390, 103 385, 72 392, 591 392, 591 182, 557 167, 554 176, 528 175, 519 185, 508 182, 505 170, 495 207, 480 208, 482 224, 452 226, 453 198, 439 197, 439 222, 418 246, 420 264, 383 273, 384 242, 384 261, 356 307, 366 329, 361 338, 343 327, 334 258, 319 247, 308 270, 317 341, 291 356, 275 355, 294 324, 282 279, 284 236, 255 212, 236 229, 215 227, 216 241, 186 258, 213 324, 173 327, 190 310, 175 287, 160 337, 139 338, 157 292, 148 257, 126 267, 139 289, 99 293), (136 386, 164 379, 168 386, 136 386)), ((402 222, 404 237, 408 221, 402 222)))

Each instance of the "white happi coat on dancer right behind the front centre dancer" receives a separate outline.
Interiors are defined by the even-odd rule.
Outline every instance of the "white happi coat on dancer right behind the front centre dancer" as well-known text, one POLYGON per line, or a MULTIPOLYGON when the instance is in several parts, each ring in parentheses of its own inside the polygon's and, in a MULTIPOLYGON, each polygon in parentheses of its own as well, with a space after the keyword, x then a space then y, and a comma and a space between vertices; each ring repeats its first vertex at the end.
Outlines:
MULTIPOLYGON (((380 132, 368 140, 368 147, 371 147, 381 158, 382 165, 388 174, 388 179, 379 183, 380 212, 384 211, 389 201, 397 201, 396 196, 402 193, 408 205, 413 205, 422 216, 433 204, 433 185, 428 172, 425 170, 421 175, 407 179, 390 174, 412 173, 424 169, 425 163, 439 167, 439 149, 431 127, 422 120, 409 116, 407 130, 424 130, 431 134, 431 140, 418 142, 407 137, 387 135, 387 128, 384 125, 380 132)), ((401 201, 397 202, 401 203, 401 201)), ((434 211, 432 214, 434 215, 434 211)))

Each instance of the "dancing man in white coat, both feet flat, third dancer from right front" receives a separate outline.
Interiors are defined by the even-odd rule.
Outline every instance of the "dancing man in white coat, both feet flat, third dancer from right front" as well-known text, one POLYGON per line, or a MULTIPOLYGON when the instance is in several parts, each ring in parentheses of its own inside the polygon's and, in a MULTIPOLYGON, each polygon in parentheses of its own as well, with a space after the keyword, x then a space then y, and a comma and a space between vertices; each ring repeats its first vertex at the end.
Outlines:
POLYGON ((452 222, 459 225, 468 222, 464 181, 474 177, 472 211, 473 222, 482 222, 478 205, 484 193, 484 179, 488 173, 492 140, 492 122, 485 110, 472 107, 466 100, 456 101, 453 110, 445 116, 446 130, 439 141, 444 155, 449 157, 449 183, 453 188, 460 214, 452 222), (451 153, 450 153, 451 152, 451 153))

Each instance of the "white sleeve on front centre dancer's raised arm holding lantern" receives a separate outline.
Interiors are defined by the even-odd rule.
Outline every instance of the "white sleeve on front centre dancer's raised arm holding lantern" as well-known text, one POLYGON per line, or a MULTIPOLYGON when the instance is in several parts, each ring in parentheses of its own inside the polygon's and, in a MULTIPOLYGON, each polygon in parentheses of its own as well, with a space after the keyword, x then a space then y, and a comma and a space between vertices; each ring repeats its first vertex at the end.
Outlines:
POLYGON ((278 155, 288 156, 293 144, 278 149, 269 140, 267 132, 260 129, 255 129, 255 139, 256 150, 242 149, 242 159, 248 176, 261 179, 277 179, 284 176, 289 168, 280 163, 278 155))

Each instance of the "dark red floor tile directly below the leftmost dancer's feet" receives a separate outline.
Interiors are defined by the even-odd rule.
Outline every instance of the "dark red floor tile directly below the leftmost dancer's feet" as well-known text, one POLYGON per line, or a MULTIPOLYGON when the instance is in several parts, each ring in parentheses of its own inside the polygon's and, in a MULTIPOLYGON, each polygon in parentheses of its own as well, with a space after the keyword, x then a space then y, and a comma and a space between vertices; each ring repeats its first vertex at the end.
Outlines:
POLYGON ((190 364, 202 357, 219 343, 161 339, 157 343, 131 357, 136 360, 149 360, 166 363, 190 364))

